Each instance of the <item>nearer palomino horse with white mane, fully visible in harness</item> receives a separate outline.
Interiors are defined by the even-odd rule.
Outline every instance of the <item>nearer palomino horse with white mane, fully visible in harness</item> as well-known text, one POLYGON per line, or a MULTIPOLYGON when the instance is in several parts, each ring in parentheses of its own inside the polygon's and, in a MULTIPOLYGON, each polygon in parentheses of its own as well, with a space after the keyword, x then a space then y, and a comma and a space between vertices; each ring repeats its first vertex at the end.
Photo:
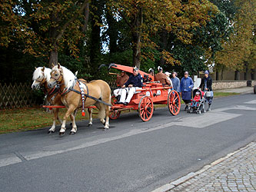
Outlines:
MULTIPOLYGON (((53 88, 56 84, 60 84, 62 103, 65 104, 66 108, 68 108, 68 111, 63 118, 62 128, 59 132, 61 136, 65 134, 65 123, 68 116, 74 113, 76 109, 81 108, 81 106, 86 108, 91 105, 95 105, 99 110, 98 118, 100 118, 101 123, 105 124, 105 129, 109 128, 111 89, 105 81, 95 80, 89 83, 85 83, 85 80, 81 79, 78 81, 71 71, 58 64, 52 68, 51 79, 48 83, 48 87, 53 88), (83 88, 85 94, 87 93, 87 95, 85 95, 84 102, 82 102, 80 88, 83 88)), ((91 118, 89 124, 92 124, 91 118)), ((74 121, 72 121, 70 134, 75 134, 76 131, 77 126, 74 119, 74 121)))

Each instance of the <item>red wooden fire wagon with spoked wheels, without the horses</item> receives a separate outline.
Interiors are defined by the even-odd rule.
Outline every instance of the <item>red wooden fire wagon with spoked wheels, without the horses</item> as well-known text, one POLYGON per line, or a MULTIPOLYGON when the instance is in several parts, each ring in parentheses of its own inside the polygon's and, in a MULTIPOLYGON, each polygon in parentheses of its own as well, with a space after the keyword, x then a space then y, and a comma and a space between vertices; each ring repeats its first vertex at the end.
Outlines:
MULTIPOLYGON (((125 65, 111 64, 109 68, 116 68, 121 71, 132 73, 133 68, 125 65)), ((121 111, 137 110, 142 121, 149 121, 154 112, 154 104, 167 104, 172 115, 177 115, 181 109, 181 99, 177 91, 171 90, 171 87, 165 86, 151 74, 139 71, 145 82, 143 87, 137 90, 128 105, 117 104, 117 98, 111 98, 111 119, 119 118, 121 111), (148 81, 150 79, 150 81, 148 81)))

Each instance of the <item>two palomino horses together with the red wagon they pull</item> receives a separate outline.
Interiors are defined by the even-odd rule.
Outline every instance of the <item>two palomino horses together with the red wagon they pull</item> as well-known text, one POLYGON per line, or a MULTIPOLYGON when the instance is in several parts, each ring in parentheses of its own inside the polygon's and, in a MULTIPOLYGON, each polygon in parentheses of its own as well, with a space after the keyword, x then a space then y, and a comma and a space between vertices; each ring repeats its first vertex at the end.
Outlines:
MULTIPOLYGON (((125 65, 109 65, 121 71, 132 73, 133 68, 125 65)), ((139 71, 144 83, 142 88, 136 90, 131 101, 125 104, 117 104, 117 98, 111 97, 111 89, 105 81, 95 80, 86 82, 77 79, 67 68, 56 65, 52 70, 49 68, 36 68, 33 74, 32 88, 45 87, 46 98, 50 105, 44 108, 54 109, 54 120, 48 133, 55 132, 55 121, 58 119, 58 108, 68 108, 60 130, 60 135, 65 134, 65 122, 70 117, 72 121, 71 134, 75 134, 77 127, 75 124, 75 114, 78 108, 82 108, 82 115, 85 115, 85 108, 88 108, 89 123, 92 124, 91 109, 98 108, 98 118, 104 124, 105 129, 109 128, 109 118, 117 119, 121 111, 137 110, 142 121, 149 121, 154 112, 154 104, 167 104, 173 115, 177 115, 181 109, 181 99, 177 91, 171 90, 170 86, 165 86, 151 74, 139 71), (150 81, 149 81, 150 80, 150 81)))

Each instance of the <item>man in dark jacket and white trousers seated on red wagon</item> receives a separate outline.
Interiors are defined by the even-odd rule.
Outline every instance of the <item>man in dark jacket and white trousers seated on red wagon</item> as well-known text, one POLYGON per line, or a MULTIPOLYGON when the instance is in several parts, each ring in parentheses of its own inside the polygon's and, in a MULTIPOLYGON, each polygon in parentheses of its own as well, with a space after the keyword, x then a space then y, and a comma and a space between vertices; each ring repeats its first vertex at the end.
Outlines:
POLYGON ((127 105, 133 96, 136 93, 138 88, 142 88, 143 85, 143 78, 141 74, 138 72, 138 68, 133 68, 133 74, 131 74, 130 78, 126 83, 121 87, 121 98, 120 103, 127 105), (126 97, 126 93, 128 92, 128 96, 126 97))

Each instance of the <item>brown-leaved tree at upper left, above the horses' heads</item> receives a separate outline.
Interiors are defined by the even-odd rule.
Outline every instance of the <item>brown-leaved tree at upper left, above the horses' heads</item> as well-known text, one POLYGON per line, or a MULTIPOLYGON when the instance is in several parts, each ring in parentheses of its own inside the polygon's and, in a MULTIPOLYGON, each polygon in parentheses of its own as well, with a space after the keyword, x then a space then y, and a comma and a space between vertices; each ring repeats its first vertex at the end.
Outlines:
POLYGON ((24 41, 24 53, 36 57, 48 56, 49 65, 58 63, 58 51, 65 46, 71 55, 78 57, 76 44, 84 36, 86 25, 85 1, 4 1, 2 22, 6 31, 1 32, 1 45, 8 46, 13 37, 24 41), (84 22, 84 23, 83 23, 84 22))

